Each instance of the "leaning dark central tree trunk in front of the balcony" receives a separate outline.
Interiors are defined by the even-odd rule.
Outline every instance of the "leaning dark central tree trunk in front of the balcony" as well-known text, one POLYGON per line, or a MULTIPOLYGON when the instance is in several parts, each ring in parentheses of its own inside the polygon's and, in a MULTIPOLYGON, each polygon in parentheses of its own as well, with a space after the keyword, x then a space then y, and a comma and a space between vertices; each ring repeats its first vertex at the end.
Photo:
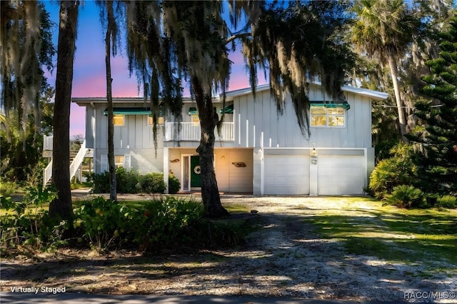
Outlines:
POLYGON ((199 108, 201 126, 200 146, 197 152, 200 156, 201 199, 205 206, 206 216, 221 218, 230 213, 221 204, 219 188, 217 187, 216 173, 214 172, 214 128, 219 117, 214 111, 211 93, 206 93, 196 76, 191 78, 192 89, 199 108))

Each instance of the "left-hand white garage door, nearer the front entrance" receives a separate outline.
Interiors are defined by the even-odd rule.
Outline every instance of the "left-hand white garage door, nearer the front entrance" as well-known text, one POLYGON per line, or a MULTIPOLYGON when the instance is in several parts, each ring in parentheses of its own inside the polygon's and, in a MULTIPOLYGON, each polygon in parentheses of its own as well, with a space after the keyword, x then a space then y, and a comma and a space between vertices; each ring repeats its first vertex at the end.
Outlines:
POLYGON ((265 194, 309 194, 309 156, 265 155, 265 194))

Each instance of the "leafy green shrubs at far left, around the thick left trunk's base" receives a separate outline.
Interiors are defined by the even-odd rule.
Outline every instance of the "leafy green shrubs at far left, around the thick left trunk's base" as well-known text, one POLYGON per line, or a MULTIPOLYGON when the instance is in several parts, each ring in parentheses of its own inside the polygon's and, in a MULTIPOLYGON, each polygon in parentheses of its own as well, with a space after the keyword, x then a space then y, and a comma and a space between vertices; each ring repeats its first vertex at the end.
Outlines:
POLYGON ((54 221, 46 211, 47 205, 56 198, 52 188, 28 188, 23 201, 13 201, 0 196, 0 207, 6 210, 1 218, 0 240, 4 248, 31 245, 37 249, 55 249, 63 245, 66 221, 54 221))

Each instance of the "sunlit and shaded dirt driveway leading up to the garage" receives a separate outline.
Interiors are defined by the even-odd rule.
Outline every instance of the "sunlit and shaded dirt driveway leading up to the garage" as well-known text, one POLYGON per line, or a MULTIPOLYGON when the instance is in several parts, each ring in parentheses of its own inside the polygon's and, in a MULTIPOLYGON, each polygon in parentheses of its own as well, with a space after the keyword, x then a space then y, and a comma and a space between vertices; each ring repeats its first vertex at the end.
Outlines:
MULTIPOLYGON (((1 262, 1 290, 11 286, 66 287, 83 293, 155 295, 255 295, 339 300, 406 299, 413 292, 455 292, 448 275, 415 275, 421 265, 388 263, 345 253, 336 240, 319 238, 303 222, 317 208, 338 208, 326 198, 223 196, 224 204, 258 211, 263 227, 246 245, 229 250, 143 256, 61 251, 32 263, 26 257, 1 262)), ((366 202, 361 202, 360 208, 366 202)), ((434 300, 452 303, 451 300, 434 300)))

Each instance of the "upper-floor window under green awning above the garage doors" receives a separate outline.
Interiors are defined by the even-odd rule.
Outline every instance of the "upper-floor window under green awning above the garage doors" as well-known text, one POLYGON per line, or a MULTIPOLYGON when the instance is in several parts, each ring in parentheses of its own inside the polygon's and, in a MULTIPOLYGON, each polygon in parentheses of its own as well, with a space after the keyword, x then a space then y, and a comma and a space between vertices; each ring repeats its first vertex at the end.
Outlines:
POLYGON ((346 109, 341 106, 313 106, 311 104, 311 126, 344 126, 346 109))

